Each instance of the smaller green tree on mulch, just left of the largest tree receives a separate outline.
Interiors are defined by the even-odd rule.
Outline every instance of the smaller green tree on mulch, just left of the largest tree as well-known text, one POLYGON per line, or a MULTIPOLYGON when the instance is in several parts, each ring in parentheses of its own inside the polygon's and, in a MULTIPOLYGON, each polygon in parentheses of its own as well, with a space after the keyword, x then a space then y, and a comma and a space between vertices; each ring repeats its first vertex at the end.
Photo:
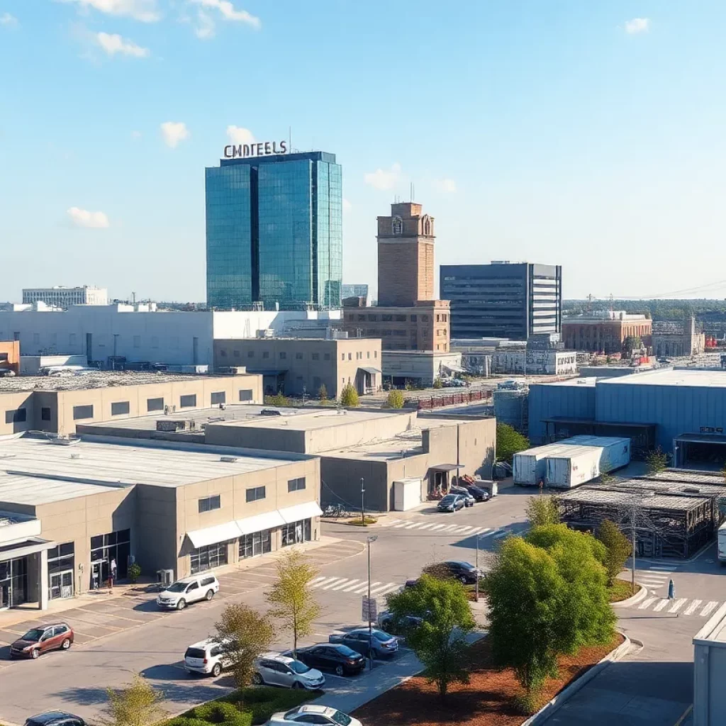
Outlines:
POLYGON ((409 633, 407 643, 426 667, 429 682, 436 683, 441 698, 446 698, 452 683, 469 682, 466 636, 476 623, 460 582, 423 574, 414 587, 389 595, 388 609, 394 620, 404 621, 407 615, 423 619, 409 633))

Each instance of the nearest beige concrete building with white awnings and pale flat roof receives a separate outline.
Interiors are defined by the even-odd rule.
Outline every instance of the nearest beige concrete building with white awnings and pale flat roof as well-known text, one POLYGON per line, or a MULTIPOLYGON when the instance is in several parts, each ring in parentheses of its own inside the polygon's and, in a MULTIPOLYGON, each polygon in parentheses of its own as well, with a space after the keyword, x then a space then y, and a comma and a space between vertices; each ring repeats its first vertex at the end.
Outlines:
MULTIPOLYGON (((111 440, 113 441, 113 439, 111 440)), ((179 578, 319 537, 320 462, 179 442, 0 441, 0 608, 179 578)))

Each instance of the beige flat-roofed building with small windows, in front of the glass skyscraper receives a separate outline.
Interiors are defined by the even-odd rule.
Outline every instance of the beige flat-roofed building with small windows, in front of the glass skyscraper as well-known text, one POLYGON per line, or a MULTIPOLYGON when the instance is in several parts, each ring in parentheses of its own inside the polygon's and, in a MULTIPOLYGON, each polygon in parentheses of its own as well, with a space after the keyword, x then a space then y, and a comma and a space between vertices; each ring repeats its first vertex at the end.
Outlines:
POLYGON ((243 365, 262 375, 264 392, 316 398, 321 386, 333 399, 351 383, 358 393, 381 384, 378 338, 240 338, 215 340, 216 370, 243 365))

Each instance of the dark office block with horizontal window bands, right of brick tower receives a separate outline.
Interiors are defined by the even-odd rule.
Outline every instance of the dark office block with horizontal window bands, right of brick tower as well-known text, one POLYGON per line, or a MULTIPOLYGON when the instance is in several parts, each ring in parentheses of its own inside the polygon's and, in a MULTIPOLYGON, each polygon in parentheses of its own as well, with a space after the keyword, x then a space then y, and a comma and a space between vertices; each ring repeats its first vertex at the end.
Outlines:
POLYGON ((529 262, 441 265, 452 338, 527 340, 562 332, 562 267, 529 262))

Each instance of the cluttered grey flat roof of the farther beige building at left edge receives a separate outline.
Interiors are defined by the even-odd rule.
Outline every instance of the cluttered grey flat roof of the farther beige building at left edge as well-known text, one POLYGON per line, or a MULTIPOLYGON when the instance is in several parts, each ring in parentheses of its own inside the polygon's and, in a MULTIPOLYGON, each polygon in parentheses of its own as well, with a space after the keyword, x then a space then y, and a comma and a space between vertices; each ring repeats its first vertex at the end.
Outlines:
POLYGON ((168 383, 171 380, 190 378, 203 378, 203 375, 121 370, 84 370, 81 375, 18 375, 13 378, 0 378, 0 395, 18 391, 83 391, 86 388, 106 386, 141 386, 144 383, 168 383))

